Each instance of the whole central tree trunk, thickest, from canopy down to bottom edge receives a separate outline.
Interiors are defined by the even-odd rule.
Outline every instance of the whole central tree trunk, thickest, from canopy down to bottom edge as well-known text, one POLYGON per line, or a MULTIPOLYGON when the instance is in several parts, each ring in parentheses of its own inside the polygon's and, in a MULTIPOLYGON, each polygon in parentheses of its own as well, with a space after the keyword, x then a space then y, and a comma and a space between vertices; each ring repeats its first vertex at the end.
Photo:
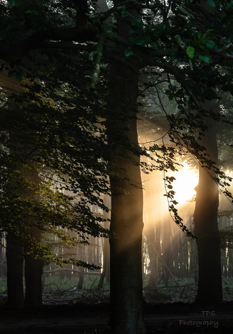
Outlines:
MULTIPOLYGON (((129 17, 118 17, 119 36, 129 39, 130 21, 129 17)), ((120 51, 120 56, 124 55, 124 50, 117 51, 120 51)), ((115 154, 115 168, 119 173, 119 178, 109 177, 112 191, 109 326, 116 334, 143 334, 146 330, 142 298, 143 197, 140 158, 126 148, 127 143, 138 148, 137 66, 133 72, 112 63, 109 84, 108 144, 115 154), (137 187, 124 181, 126 175, 137 187)))

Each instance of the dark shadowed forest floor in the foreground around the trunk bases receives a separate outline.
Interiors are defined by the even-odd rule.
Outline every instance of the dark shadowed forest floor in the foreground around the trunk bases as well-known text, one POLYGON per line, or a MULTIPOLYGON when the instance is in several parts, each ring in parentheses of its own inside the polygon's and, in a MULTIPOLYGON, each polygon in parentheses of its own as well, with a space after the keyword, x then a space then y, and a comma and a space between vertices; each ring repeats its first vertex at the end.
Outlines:
MULTIPOLYGON (((233 290, 224 291, 224 303, 204 310, 193 304, 192 287, 144 291, 145 324, 148 334, 228 334, 233 332, 233 290), (210 313, 208 313, 210 312, 210 313)), ((102 334, 107 328, 109 291, 97 288, 79 291, 47 288, 40 311, 12 312, 7 295, 0 295, 0 334, 102 334)))

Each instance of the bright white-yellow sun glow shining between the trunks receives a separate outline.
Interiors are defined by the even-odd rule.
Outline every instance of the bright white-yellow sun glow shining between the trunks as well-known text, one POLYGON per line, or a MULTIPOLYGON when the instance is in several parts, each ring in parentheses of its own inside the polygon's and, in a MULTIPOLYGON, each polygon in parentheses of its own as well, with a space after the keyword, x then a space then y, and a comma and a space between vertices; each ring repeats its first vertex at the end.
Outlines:
POLYGON ((198 171, 190 168, 186 161, 182 162, 183 167, 174 177, 173 190, 175 191, 175 200, 179 205, 188 201, 196 194, 194 188, 198 184, 198 171))

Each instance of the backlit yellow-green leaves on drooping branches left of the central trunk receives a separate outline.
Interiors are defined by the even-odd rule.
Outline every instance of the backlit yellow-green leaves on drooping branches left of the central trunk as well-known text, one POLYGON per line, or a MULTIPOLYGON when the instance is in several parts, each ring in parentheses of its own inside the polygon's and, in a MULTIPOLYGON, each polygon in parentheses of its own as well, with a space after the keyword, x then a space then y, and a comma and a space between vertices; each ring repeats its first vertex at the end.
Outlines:
POLYGON ((54 62, 48 71, 45 55, 37 56, 33 72, 21 66, 17 92, 3 82, 1 227, 20 237, 32 256, 93 269, 55 256, 48 233, 70 247, 88 243, 88 235, 108 236, 105 216, 95 213, 109 211, 100 198, 109 193, 103 104, 88 96, 85 77, 80 80, 86 58, 81 64, 69 53, 64 70, 61 59, 67 54, 50 52, 54 62), (76 62, 81 68, 72 77, 76 62))

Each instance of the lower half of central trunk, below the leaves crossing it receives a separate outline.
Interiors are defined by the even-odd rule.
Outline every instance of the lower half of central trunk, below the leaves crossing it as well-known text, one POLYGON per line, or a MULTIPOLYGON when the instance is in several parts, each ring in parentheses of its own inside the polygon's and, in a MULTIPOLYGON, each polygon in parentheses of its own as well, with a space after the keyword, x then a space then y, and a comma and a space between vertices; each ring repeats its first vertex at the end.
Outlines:
MULTIPOLYGON (((136 171, 130 172, 134 178, 135 174, 140 176, 136 171)), ((111 185, 117 187, 119 181, 111 180, 111 185)), ((124 188, 129 194, 112 196, 110 231, 115 237, 110 239, 109 325, 117 334, 139 334, 145 333, 142 314, 142 194, 141 189, 129 185, 124 188)))

